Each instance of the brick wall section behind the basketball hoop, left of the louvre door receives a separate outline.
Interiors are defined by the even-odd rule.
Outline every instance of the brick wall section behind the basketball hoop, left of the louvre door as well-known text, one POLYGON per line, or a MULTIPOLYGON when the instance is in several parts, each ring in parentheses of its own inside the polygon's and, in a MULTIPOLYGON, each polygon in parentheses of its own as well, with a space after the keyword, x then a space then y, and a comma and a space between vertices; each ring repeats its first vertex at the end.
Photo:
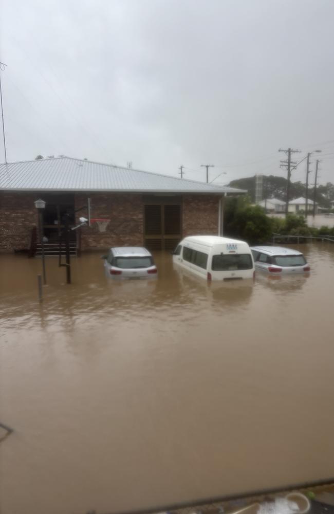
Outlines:
MULTIPOLYGON (((97 225, 82 227, 82 250, 103 250, 112 246, 143 245, 143 204, 142 196, 135 194, 90 193, 91 217, 108 218, 110 223, 105 232, 100 233, 97 225)), ((76 209, 87 205, 88 195, 76 194, 76 209)), ((87 217, 87 211, 76 214, 87 217)), ((78 221, 79 223, 79 221, 78 221)))

